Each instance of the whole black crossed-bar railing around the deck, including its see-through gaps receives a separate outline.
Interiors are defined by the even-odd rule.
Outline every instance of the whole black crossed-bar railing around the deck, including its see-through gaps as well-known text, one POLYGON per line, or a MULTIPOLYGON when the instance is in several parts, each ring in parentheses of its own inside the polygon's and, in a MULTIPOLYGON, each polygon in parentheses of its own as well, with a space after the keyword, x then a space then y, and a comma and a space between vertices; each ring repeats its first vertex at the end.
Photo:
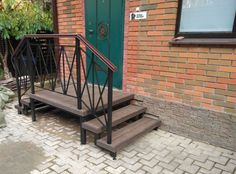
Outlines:
POLYGON ((74 97, 77 109, 96 117, 107 130, 107 143, 112 143, 112 82, 117 68, 83 36, 27 35, 17 46, 12 63, 19 106, 30 89, 32 94, 43 89, 74 97), (30 84, 23 83, 28 79, 30 84), (98 112, 103 113, 105 124, 98 112))

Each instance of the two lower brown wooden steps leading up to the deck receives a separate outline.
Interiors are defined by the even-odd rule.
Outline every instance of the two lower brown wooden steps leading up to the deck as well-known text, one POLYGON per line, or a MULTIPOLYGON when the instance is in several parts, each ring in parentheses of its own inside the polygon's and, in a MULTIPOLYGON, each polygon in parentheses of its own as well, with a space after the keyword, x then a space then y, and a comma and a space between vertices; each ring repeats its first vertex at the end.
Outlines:
POLYGON ((145 113, 145 107, 131 104, 131 100, 133 98, 123 99, 121 107, 113 109, 111 144, 107 143, 104 115, 82 123, 82 129, 94 134, 94 143, 109 151, 113 159, 120 149, 161 125, 158 118, 150 118, 145 113))

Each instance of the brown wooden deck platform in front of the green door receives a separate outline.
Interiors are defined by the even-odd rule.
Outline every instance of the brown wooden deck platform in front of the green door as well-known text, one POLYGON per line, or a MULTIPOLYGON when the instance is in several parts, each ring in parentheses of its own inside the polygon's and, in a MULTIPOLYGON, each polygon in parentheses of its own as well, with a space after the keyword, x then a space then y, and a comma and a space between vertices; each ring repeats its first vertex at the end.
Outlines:
MULTIPOLYGON (((67 112, 73 113, 75 115, 78 116, 87 116, 90 114, 89 108, 91 106, 90 101, 89 101, 89 95, 88 95, 88 91, 86 90, 82 100, 84 101, 85 104, 82 104, 82 109, 77 109, 77 98, 75 97, 75 90, 73 88, 73 86, 69 87, 69 91, 68 94, 70 96, 67 95, 63 95, 60 94, 61 89, 57 88, 55 90, 56 92, 53 91, 49 91, 49 90, 42 90, 42 89, 36 89, 35 94, 29 94, 30 98, 35 99, 37 101, 40 101, 42 103, 51 105, 53 107, 65 110, 67 112), (86 107, 85 105, 87 105, 88 107, 86 107)), ((90 94, 91 92, 91 88, 89 88, 90 94)), ((94 91, 94 97, 95 97, 95 106, 99 100, 99 91, 98 89, 96 89, 94 91)), ((125 101, 129 101, 131 99, 133 99, 134 95, 133 94, 127 94, 127 93, 123 93, 120 91, 113 91, 113 106, 119 105, 125 101)), ((107 107, 107 90, 105 89, 104 94, 103 94, 103 103, 104 103, 104 107, 107 107)), ((102 104, 101 102, 98 105, 98 109, 97 111, 102 110, 102 104)))

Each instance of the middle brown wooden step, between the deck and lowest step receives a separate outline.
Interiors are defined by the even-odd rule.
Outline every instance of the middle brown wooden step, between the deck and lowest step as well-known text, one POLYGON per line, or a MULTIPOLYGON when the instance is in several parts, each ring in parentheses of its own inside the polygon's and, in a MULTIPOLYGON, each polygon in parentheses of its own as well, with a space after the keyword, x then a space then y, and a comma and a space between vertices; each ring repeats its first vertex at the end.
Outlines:
MULTIPOLYGON (((125 122, 135 116, 138 116, 145 111, 145 107, 136 105, 128 105, 117 109, 112 112, 112 127, 117 126, 118 124, 125 122)), ((104 125, 106 125, 104 115, 99 117, 99 119, 104 125)), ((88 122, 84 122, 82 124, 82 128, 89 130, 95 134, 100 134, 105 130, 104 126, 99 122, 97 118, 94 118, 88 122)))

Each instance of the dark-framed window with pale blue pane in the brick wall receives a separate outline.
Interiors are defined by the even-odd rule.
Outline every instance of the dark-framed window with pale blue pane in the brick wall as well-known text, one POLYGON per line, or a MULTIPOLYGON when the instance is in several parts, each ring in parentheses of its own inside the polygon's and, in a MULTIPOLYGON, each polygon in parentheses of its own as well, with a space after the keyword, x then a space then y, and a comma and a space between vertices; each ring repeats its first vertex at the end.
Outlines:
POLYGON ((179 0, 176 36, 236 37, 236 0, 179 0))

